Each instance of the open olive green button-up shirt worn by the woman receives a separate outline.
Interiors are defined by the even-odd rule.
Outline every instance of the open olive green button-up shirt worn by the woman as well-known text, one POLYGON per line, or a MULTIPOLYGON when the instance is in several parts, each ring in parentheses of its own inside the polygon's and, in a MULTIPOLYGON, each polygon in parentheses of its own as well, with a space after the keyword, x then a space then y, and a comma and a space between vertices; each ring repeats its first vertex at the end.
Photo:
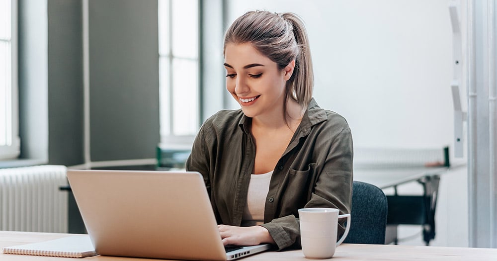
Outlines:
MULTIPOLYGON (((250 124, 241 109, 216 113, 200 128, 186 161, 187 171, 203 175, 219 224, 242 223, 255 160, 250 124)), ((279 250, 300 247, 299 208, 350 213, 352 159, 352 135, 345 119, 312 99, 274 169, 266 197, 262 226, 279 250)), ((338 235, 344 232, 342 225, 338 235)))

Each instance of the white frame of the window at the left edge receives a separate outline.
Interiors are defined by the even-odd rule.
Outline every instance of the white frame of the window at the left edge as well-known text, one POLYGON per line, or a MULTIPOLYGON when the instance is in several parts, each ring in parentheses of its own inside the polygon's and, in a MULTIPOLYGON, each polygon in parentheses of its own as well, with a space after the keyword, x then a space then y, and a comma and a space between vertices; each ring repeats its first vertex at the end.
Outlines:
MULTIPOLYGON (((7 144, 0 145, 0 160, 14 159, 17 158, 20 154, 17 75, 17 4, 17 0, 10 0, 10 115, 7 115, 7 121, 10 120, 11 128, 10 130, 7 130, 7 133, 10 132, 10 135, 7 134, 7 144)), ((8 39, 5 40, 9 41, 8 39)))

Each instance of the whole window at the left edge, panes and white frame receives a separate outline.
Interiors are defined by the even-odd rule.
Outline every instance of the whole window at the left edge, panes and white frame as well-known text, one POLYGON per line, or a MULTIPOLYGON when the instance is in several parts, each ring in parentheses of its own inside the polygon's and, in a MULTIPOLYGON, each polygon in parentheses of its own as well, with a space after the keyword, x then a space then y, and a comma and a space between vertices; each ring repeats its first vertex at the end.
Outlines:
POLYGON ((19 155, 16 14, 16 0, 0 0, 0 159, 19 155))

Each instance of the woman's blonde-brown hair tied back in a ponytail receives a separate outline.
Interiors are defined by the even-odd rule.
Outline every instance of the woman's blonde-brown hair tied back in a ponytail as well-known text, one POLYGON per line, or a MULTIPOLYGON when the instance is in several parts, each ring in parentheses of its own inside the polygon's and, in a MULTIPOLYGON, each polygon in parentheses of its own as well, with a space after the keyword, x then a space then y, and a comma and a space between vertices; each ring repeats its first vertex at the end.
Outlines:
POLYGON ((290 12, 246 12, 226 31, 224 51, 228 43, 252 44, 258 52, 275 62, 280 70, 295 60, 293 75, 286 83, 286 98, 295 100, 302 109, 307 108, 312 98, 314 75, 307 31, 298 15, 290 12))

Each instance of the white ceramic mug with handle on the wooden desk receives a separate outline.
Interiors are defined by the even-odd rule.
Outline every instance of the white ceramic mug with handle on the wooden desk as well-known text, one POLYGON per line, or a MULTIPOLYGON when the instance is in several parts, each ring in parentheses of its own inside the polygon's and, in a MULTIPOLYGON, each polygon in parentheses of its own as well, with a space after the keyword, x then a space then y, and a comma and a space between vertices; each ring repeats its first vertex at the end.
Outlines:
POLYGON ((306 258, 329 259, 335 254, 335 249, 347 237, 350 228, 350 214, 338 215, 336 208, 301 208, 300 238, 302 252, 306 258), (347 218, 345 233, 336 242, 338 219, 347 218))

